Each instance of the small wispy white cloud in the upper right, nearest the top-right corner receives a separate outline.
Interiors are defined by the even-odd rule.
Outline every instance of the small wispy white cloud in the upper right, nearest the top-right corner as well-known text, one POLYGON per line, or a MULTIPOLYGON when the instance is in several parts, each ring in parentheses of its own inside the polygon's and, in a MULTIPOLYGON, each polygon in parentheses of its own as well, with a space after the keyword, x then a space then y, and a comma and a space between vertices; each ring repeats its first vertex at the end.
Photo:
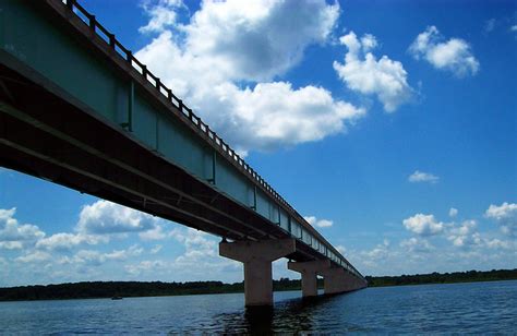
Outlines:
POLYGON ((416 58, 423 58, 435 69, 450 71, 458 77, 474 75, 479 70, 479 61, 472 55, 470 45, 460 38, 443 41, 438 29, 429 26, 419 34, 409 47, 416 58))

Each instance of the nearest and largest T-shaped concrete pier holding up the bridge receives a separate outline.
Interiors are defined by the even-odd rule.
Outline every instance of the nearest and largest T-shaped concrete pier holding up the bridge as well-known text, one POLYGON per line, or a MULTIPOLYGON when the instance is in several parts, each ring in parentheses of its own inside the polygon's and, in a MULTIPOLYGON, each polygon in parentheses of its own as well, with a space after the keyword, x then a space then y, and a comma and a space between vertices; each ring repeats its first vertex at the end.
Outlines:
POLYGON ((220 242, 219 255, 244 264, 245 305, 273 305, 272 262, 296 252, 294 239, 220 242))

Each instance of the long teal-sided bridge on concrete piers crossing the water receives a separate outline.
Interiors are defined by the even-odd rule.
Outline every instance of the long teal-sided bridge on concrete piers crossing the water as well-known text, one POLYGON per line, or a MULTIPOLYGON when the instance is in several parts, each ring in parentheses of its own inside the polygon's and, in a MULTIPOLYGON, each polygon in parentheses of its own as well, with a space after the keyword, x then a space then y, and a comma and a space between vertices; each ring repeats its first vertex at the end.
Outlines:
POLYGON ((364 277, 76 0, 0 0, 0 166, 221 237, 247 305, 364 277))

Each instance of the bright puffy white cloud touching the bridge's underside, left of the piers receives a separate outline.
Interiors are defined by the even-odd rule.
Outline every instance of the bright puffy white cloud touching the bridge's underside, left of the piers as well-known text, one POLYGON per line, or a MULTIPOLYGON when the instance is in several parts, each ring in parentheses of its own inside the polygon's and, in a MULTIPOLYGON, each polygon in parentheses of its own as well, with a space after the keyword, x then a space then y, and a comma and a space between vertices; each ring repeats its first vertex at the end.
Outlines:
POLYGON ((76 229, 86 235, 142 232, 154 229, 157 220, 148 214, 100 200, 83 207, 76 229))

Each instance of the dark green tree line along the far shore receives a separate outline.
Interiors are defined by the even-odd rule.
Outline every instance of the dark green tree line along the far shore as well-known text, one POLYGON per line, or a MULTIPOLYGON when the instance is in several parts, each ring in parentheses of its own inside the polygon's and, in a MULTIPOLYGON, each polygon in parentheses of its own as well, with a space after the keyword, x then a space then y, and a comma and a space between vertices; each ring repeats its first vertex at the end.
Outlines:
MULTIPOLYGON (((366 276, 366 279, 369 287, 512 280, 517 279, 517 269, 493 269, 489 272, 468 271, 445 274, 432 273, 380 277, 366 276)), ((322 287, 322 279, 318 280, 318 285, 322 287)), ((273 281, 273 287, 276 291, 297 290, 300 289, 300 280, 290 280, 288 278, 273 281)), ((0 301, 182 296, 242 291, 244 291, 243 283, 92 281, 0 288, 0 301)))

